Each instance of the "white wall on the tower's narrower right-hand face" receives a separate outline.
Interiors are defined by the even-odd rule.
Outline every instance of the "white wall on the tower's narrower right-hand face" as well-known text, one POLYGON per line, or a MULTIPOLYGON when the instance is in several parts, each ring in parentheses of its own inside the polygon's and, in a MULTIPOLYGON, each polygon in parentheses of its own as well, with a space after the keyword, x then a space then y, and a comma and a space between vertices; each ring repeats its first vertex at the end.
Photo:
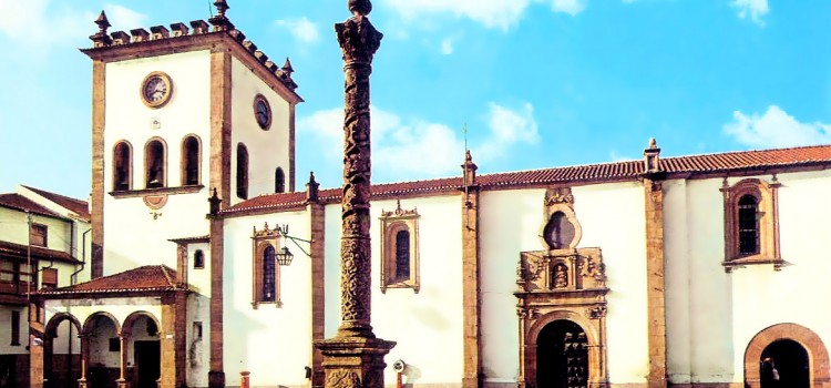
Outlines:
POLYGON ((237 197, 237 144, 248 149, 248 198, 274 193, 275 171, 283 167, 288 190, 289 173, 289 104, 271 90, 254 72, 236 58, 232 59, 232 204, 242 202, 237 197), (263 94, 271 106, 271 126, 264 131, 254 114, 254 98, 263 94))

